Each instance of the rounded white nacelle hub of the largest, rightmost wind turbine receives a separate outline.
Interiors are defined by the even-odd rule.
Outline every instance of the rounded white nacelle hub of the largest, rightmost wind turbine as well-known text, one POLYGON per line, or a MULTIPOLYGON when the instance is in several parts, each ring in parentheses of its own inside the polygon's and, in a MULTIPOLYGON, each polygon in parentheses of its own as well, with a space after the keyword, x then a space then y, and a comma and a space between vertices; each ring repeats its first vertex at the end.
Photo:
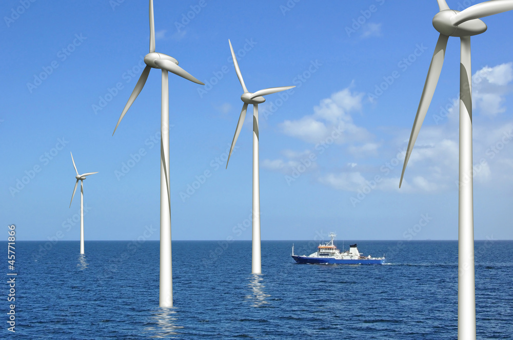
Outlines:
POLYGON ((485 32, 488 28, 480 19, 472 19, 459 25, 453 25, 451 18, 458 13, 460 13, 460 11, 451 9, 438 12, 437 15, 433 17, 433 27, 443 35, 454 37, 478 35, 485 32))

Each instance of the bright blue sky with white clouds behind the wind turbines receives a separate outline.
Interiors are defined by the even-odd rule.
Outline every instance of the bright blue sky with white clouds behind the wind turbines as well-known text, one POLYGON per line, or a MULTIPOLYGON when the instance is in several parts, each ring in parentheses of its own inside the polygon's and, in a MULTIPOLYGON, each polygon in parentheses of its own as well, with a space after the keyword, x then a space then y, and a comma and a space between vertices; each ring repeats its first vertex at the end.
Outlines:
MULTIPOLYGON (((205 82, 169 76, 172 239, 251 239, 251 107, 225 169, 243 93, 231 39, 249 91, 295 86, 259 105, 262 240, 457 240, 459 38, 399 188, 439 36, 437 2, 410 4, 155 0, 156 51, 205 82)), ((72 152, 79 173, 98 172, 84 181, 86 242, 159 240, 159 70, 112 136, 145 66, 147 1, 7 0, 0 14, 0 224, 17 240, 79 240, 72 152)), ((513 239, 512 19, 485 17, 471 38, 479 240, 513 239)))

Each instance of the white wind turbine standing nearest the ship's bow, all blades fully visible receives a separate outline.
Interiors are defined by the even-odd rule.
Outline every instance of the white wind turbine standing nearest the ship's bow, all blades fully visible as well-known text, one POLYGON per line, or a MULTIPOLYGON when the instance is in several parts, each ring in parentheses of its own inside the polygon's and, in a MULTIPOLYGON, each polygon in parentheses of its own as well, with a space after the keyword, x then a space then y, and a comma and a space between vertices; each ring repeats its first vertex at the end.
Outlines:
POLYGON ((265 101, 263 96, 285 91, 288 89, 295 88, 295 86, 282 86, 279 88, 269 88, 257 91, 255 93, 251 93, 246 88, 244 84, 244 79, 242 79, 241 69, 239 68, 239 63, 237 62, 237 58, 235 57, 235 53, 233 52, 233 47, 231 46, 231 41, 228 39, 228 44, 230 44, 231 56, 233 58, 233 65, 235 66, 235 72, 237 73, 237 77, 239 77, 239 81, 241 82, 242 89, 244 93, 241 96, 241 100, 244 102, 242 105, 241 116, 239 117, 239 122, 237 123, 237 128, 235 129, 235 135, 233 136, 233 141, 231 142, 230 153, 228 154, 228 160, 226 161, 226 168, 228 168, 228 162, 230 161, 231 152, 233 151, 233 147, 235 146, 235 142, 237 138, 239 138, 239 134, 241 133, 242 124, 244 123, 244 118, 246 118, 246 110, 248 108, 248 104, 253 105, 253 228, 252 228, 252 253, 251 253, 251 273, 253 274, 261 274, 262 273, 262 259, 260 254, 260 181, 259 181, 259 163, 258 163, 258 153, 259 153, 259 134, 258 134, 258 104, 261 104, 265 101))

